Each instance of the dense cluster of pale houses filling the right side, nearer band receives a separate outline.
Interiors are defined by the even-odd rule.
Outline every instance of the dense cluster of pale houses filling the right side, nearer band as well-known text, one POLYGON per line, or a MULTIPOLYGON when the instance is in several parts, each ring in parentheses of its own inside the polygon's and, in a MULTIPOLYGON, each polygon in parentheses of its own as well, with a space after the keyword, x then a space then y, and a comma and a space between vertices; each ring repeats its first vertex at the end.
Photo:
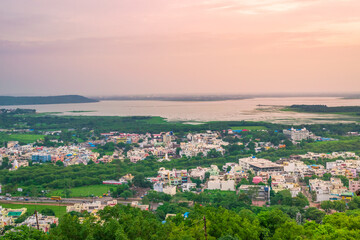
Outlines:
MULTIPOLYGON (((308 153, 306 156, 311 156, 308 153)), ((264 204, 270 199, 270 189, 279 192, 289 190, 292 197, 296 197, 303 189, 301 179, 317 176, 311 179, 306 190, 316 195, 314 201, 345 199, 348 200, 360 189, 360 181, 354 179, 360 173, 360 160, 353 153, 320 154, 321 156, 342 156, 355 158, 327 162, 327 167, 322 165, 306 165, 298 160, 298 156, 286 160, 271 162, 267 159, 248 157, 239 159, 238 163, 226 163, 219 169, 216 165, 209 168, 197 167, 194 169, 168 170, 160 168, 156 177, 148 178, 153 183, 157 192, 175 195, 178 191, 243 191, 257 188, 258 196, 253 199, 253 204, 264 204), (325 173, 331 174, 329 181, 321 180, 325 173), (252 176, 252 180, 250 180, 252 176), (350 179, 349 188, 343 186, 339 176, 350 179), (199 179, 198 184, 194 179, 199 179), (243 184, 243 179, 247 184, 243 184), (259 197, 260 196, 260 197, 259 197)))

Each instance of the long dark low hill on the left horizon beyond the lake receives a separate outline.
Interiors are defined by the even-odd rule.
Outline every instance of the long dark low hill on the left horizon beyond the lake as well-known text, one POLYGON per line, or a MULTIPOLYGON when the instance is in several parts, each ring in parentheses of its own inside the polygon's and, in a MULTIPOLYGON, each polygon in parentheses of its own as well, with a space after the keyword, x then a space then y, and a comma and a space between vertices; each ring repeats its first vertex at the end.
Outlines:
POLYGON ((91 103, 98 100, 90 99, 80 95, 61 95, 46 97, 12 97, 0 96, 1 106, 11 105, 39 105, 39 104, 64 104, 64 103, 91 103))

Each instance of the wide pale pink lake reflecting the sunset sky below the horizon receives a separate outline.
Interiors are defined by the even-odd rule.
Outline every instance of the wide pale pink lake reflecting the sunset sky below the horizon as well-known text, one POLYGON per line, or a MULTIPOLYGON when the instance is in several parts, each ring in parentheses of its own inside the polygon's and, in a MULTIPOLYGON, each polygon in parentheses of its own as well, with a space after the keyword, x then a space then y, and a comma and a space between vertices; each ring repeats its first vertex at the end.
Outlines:
POLYGON ((280 111, 293 104, 323 104, 328 106, 360 106, 360 99, 332 97, 254 98, 214 102, 175 101, 101 101, 82 104, 25 105, 38 112, 61 112, 65 115, 88 116, 161 116, 169 121, 251 120, 281 123, 314 123, 354 121, 352 117, 335 114, 309 114, 280 111), (266 106, 258 106, 266 105, 266 106), (91 111, 91 112, 70 112, 91 111), (346 119, 344 119, 346 118, 346 119))

